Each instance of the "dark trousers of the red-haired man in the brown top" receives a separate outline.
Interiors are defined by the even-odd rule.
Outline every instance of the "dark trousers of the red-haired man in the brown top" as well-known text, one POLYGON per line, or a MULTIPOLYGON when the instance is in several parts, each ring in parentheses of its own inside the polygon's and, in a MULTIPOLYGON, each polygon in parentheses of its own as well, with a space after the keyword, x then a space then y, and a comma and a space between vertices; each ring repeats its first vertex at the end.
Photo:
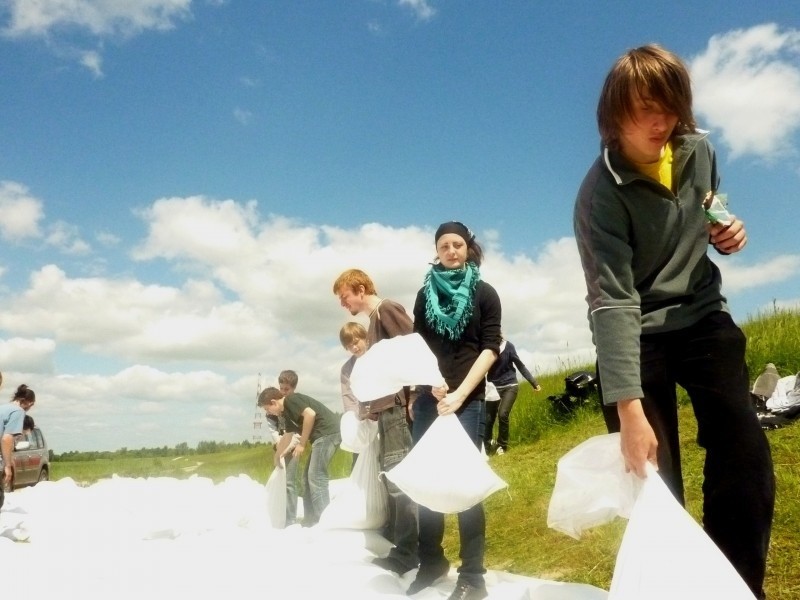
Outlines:
MULTIPOLYGON (((383 411, 378 418, 380 448, 378 460, 381 471, 388 471, 403 460, 411 450, 411 432, 406 422, 405 406, 383 411)), ((417 536, 417 505, 394 483, 381 477, 389 500, 389 517, 384 535, 394 544, 389 556, 414 569, 419 564, 417 536)))

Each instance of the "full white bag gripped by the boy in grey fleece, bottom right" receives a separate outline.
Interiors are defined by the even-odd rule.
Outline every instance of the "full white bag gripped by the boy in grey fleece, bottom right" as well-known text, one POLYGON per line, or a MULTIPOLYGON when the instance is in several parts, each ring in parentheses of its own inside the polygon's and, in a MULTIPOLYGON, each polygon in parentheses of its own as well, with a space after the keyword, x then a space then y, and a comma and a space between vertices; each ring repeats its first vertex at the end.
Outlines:
POLYGON ((617 553, 608 600, 676 598, 755 599, 728 559, 648 465, 617 553))

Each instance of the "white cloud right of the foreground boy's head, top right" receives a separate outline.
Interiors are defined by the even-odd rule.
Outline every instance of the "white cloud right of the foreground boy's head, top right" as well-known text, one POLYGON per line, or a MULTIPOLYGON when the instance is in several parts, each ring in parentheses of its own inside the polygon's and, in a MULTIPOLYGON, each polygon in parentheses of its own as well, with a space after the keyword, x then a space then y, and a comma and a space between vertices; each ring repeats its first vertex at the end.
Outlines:
POLYGON ((732 157, 796 152, 800 31, 770 23, 715 35, 690 69, 701 126, 719 132, 732 157))

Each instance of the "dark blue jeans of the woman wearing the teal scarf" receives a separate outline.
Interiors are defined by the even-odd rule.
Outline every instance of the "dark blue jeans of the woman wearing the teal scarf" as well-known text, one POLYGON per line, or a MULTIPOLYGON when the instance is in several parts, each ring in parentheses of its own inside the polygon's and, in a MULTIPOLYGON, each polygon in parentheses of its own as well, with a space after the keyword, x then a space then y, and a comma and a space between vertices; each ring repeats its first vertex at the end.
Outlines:
MULTIPOLYGON (((429 393, 420 394, 414 403, 414 427, 412 436, 416 444, 439 416, 436 399, 429 393)), ((458 420, 475 446, 480 449, 484 430, 484 402, 473 400, 457 412, 458 420)), ((461 546, 461 566, 458 578, 461 581, 483 587, 483 554, 486 547, 486 516, 483 504, 458 513, 458 535, 461 546)), ((419 507, 419 561, 420 568, 436 567, 445 560, 442 539, 444 538, 444 515, 420 505, 419 507)))

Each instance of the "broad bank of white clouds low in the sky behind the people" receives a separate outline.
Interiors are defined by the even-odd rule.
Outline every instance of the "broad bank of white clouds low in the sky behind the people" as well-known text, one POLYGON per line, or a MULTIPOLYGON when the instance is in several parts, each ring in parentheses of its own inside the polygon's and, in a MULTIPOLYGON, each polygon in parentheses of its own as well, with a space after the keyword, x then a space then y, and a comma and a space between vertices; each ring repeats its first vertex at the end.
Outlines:
MULTIPOLYGON (((137 267, 157 265, 159 283, 80 277, 50 264, 13 293, 0 289, 0 364, 10 365, 8 385, 36 389, 48 437, 68 445, 59 451, 249 439, 258 388, 276 384, 286 368, 300 374, 302 391, 340 409, 348 355, 338 331, 353 317, 339 306, 333 280, 363 268, 380 296, 411 312, 434 255, 427 227, 299 223, 262 215, 255 202, 163 198, 138 216, 145 235, 131 256, 137 267), (69 375, 54 373, 63 356, 78 365, 69 375), (82 439, 75 431, 91 433, 82 439)), ((481 271, 503 303, 504 333, 525 363, 537 374, 590 364, 574 240, 510 255, 496 231, 476 234, 486 249, 481 271)), ((718 262, 728 293, 800 271, 796 255, 718 262)))

